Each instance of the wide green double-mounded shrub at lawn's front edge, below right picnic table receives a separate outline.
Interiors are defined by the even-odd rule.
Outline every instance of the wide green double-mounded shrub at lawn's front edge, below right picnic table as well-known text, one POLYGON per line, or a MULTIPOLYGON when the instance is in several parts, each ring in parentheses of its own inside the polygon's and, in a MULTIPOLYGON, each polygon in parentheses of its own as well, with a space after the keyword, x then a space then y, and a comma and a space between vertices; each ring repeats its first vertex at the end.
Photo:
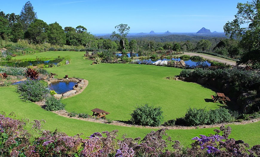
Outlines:
POLYGON ((185 114, 184 120, 188 126, 197 126, 231 122, 234 118, 226 108, 218 108, 215 110, 189 108, 185 114))

